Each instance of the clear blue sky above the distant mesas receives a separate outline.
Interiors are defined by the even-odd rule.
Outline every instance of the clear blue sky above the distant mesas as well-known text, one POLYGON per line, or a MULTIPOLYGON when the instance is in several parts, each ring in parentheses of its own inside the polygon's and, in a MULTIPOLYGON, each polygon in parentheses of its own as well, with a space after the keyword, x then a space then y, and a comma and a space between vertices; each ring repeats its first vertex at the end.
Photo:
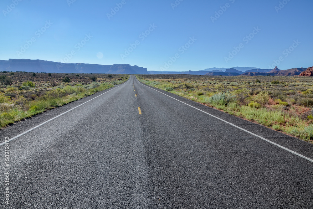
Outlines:
POLYGON ((176 4, 175 0, 2 0, 0 60, 65 58, 66 63, 127 63, 150 71, 268 69, 276 63, 280 69, 313 66, 312 0, 177 0, 176 4), (122 7, 115 8, 116 4, 122 7), (111 13, 114 8, 118 11, 111 13), (141 35, 145 32, 146 37, 141 35), (28 49, 21 49, 25 44, 28 49), (128 55, 125 49, 130 44, 136 48, 128 55), (240 51, 233 52, 234 47, 240 51), (285 51, 289 48, 292 51, 285 51))

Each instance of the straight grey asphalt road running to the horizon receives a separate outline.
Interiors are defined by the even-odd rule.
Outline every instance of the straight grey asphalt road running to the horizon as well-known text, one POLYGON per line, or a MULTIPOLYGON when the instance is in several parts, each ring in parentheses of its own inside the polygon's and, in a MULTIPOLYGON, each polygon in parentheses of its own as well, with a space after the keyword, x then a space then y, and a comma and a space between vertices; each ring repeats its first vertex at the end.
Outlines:
POLYGON ((312 144, 135 76, 1 142, 19 134, 0 146, 0 208, 313 208, 312 144))

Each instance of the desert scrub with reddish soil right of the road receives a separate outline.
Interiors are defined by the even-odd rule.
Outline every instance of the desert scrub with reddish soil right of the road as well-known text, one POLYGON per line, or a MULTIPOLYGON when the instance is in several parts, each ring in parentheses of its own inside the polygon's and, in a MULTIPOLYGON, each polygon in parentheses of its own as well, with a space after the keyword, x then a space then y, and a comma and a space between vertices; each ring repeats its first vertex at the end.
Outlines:
POLYGON ((147 85, 313 142, 313 80, 287 76, 140 75, 147 85))

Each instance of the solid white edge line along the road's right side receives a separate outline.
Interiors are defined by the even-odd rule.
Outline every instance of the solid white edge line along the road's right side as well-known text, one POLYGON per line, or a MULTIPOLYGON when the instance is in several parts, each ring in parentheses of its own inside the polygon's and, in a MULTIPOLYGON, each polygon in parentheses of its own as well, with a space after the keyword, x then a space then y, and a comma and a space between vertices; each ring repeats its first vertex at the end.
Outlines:
MULTIPOLYGON (((137 81, 138 81, 138 80, 137 80, 137 81)), ((146 85, 142 84, 141 82, 139 82, 139 83, 140 83, 141 85, 143 85, 143 86, 146 86, 146 85)), ((146 87, 151 88, 151 87, 149 87, 149 86, 146 86, 146 87)), ((153 88, 151 88, 151 89, 154 90, 154 91, 157 91, 156 89, 153 89, 153 88)), ((164 93, 161 92, 161 91, 157 91, 157 92, 160 92, 161 94, 164 94, 164 93)), ((166 95, 167 97, 171 97, 171 96, 168 96, 167 94, 164 94, 164 95, 166 95)), ((172 98, 172 99, 175 99, 174 97, 171 97, 171 98, 172 98)), ((179 101, 178 99, 175 99, 175 100, 177 100, 178 102, 182 102, 182 101, 179 101)), ((191 106, 191 105, 189 105, 189 104, 187 104, 187 103, 185 103, 185 102, 182 102, 182 103, 185 104, 185 105, 188 105, 188 106, 190 106, 190 107, 193 107, 193 106, 191 106)), ((198 109, 197 107, 193 107, 193 108, 195 108, 196 110, 199 110, 199 111, 201 111, 201 112, 204 112, 203 110, 200 110, 200 109, 198 109)), ((205 113, 205 114, 208 114, 209 116, 211 116, 211 117, 213 117, 213 118, 216 118, 216 119, 218 119, 218 120, 221 120, 221 121, 223 121, 224 123, 228 123, 229 125, 232 125, 233 127, 239 128, 240 130, 242 130, 242 131, 244 131, 244 132, 250 133, 251 135, 254 135, 254 136, 256 136, 256 137, 258 137, 258 138, 260 138, 260 139, 262 139, 262 140, 264 140, 264 141, 267 141, 267 142, 269 142, 269 143, 271 143, 271 144, 274 144, 275 146, 280 147, 281 149, 285 149, 286 151, 291 152, 292 154, 298 155, 298 156, 301 157, 301 158, 304 158, 304 159, 306 159, 306 160, 309 160, 310 162, 313 163, 313 159, 310 159, 310 158, 308 158, 308 157, 305 157, 304 155, 299 154, 299 153, 297 153, 297 152, 295 152, 295 151, 292 151, 291 149, 288 149, 288 148, 283 147, 283 146, 281 146, 281 145, 279 145, 279 144, 276 144, 275 142, 272 142, 272 141, 270 141, 270 140, 268 140, 268 139, 266 139, 266 138, 263 138, 263 137, 261 137, 261 136, 255 134, 255 133, 252 133, 252 132, 250 132, 250 131, 248 131, 248 130, 246 130, 246 129, 244 129, 244 128, 240 128, 239 126, 236 126, 236 125, 233 124, 233 123, 229 123, 229 122, 227 122, 227 121, 225 121, 225 120, 223 120, 223 119, 221 119, 221 118, 218 118, 218 117, 216 117, 216 116, 214 116, 214 115, 211 115, 211 114, 208 113, 208 112, 204 112, 204 113, 205 113)))

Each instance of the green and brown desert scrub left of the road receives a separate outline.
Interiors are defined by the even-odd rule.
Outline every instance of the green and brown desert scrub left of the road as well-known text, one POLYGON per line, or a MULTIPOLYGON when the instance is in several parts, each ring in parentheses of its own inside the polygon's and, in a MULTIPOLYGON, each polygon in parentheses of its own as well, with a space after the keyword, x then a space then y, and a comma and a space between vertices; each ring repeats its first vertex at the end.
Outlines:
POLYGON ((0 126, 120 84, 128 75, 0 72, 0 126), (122 78, 122 80, 118 80, 122 78))

